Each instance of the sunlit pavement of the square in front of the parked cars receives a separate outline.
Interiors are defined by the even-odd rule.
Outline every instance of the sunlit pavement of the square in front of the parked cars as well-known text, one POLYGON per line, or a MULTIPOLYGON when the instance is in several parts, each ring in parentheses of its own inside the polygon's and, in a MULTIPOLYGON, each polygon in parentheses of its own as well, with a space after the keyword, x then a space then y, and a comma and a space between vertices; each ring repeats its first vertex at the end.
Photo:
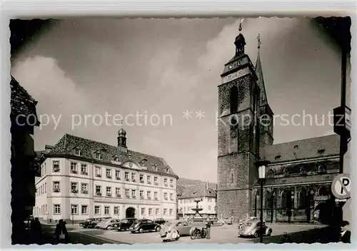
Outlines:
MULTIPOLYGON (((284 232, 300 232, 305 230, 311 230, 313 228, 322 227, 321 225, 271 225, 274 235, 283 235, 284 232)), ((161 237, 157 232, 144 232, 143 234, 132 234, 131 232, 117 232, 117 231, 105 231, 105 230, 89 230, 80 229, 72 230, 71 232, 83 233, 86 235, 92 235, 96 237, 103 237, 106 240, 113 240, 114 242, 121 243, 161 243, 161 237)), ((191 240, 189 236, 181 237, 178 241, 167 242, 169 243, 252 243, 254 239, 238 237, 237 225, 224 225, 221 227, 211 228, 211 239, 197 239, 191 240)))

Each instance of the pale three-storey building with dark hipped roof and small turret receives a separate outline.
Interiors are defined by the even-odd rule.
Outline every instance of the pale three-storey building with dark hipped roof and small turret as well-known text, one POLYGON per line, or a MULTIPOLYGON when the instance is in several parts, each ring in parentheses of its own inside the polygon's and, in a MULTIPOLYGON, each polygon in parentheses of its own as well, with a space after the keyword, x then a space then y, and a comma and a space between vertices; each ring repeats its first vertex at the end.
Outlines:
POLYGON ((36 178, 37 217, 176 219, 178 176, 163 158, 129 150, 124 129, 116 146, 66 134, 44 155, 36 178))

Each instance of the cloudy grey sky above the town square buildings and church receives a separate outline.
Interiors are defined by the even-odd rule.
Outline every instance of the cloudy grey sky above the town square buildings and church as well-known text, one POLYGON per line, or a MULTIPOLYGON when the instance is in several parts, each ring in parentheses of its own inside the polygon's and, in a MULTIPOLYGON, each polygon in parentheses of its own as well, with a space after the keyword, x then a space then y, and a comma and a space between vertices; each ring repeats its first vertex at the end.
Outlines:
MULTIPOLYGON (((216 182, 217 85, 223 64, 234 55, 239 21, 56 22, 11 62, 11 74, 39 101, 39 115, 52 117, 35 130, 36 150, 54 145, 64 133, 116 145, 119 126, 112 118, 98 126, 99 116, 95 123, 90 117, 85 123, 85 115, 156 114, 161 118, 157 126, 143 125, 143 118, 142 126, 124 123, 128 147, 165 158, 181 177, 216 182), (186 110, 192 118, 182 118, 186 110), (204 111, 201 120, 196 118, 199 110, 204 111), (59 116, 54 129, 53 118, 59 116), (77 124, 81 116, 80 126, 73 126, 72 116, 77 124)), ((333 133, 327 114, 340 101, 341 57, 328 36, 309 19, 244 19, 242 33, 253 63, 261 34, 266 93, 276 115, 309 113, 318 124, 326 116, 324 126, 314 121, 313 126, 282 126, 277 119, 274 142, 333 133)), ((295 123, 301 122, 296 118, 295 123)))

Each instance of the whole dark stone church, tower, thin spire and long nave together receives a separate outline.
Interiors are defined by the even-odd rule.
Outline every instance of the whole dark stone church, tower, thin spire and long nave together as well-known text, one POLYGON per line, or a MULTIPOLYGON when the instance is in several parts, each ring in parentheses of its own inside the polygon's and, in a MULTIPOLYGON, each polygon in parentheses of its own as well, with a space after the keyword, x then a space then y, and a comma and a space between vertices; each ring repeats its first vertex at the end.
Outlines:
MULTIPOLYGON (((239 34, 236 53, 218 86, 218 217, 260 215, 258 160, 268 160, 263 187, 267 222, 312 222, 331 218, 331 183, 339 173, 339 136, 273 145, 273 111, 266 96, 261 59, 255 66, 239 34)), ((260 39, 258 38, 258 50, 260 39)))

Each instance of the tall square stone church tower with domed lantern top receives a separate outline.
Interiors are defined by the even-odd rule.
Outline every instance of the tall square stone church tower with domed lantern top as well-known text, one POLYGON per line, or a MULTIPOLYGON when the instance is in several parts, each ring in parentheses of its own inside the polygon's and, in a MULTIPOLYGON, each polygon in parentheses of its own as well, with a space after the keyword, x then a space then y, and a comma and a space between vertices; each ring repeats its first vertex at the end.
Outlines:
MULTIPOLYGON (((266 141, 270 140, 258 123, 260 112, 268 109, 261 86, 263 81, 259 81, 263 76, 257 76, 244 52, 246 41, 241 30, 240 24, 234 41, 236 53, 225 64, 218 86, 218 217, 233 216, 235 219, 252 215, 252 187, 257 180, 260 134, 267 137, 266 141), (261 102, 266 104, 261 106, 261 102)), ((261 68, 259 56, 257 66, 261 68)))

